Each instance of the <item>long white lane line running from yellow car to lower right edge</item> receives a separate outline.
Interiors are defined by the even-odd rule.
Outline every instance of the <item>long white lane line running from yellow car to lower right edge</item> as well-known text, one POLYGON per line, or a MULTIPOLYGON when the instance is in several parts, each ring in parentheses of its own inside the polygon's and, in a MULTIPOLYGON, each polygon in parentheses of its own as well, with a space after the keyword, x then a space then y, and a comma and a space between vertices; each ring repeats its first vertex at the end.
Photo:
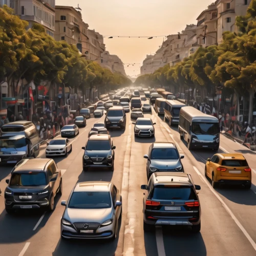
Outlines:
POLYGON ((202 178, 202 180, 204 181, 204 183, 209 187, 209 189, 211 190, 211 192, 217 197, 217 199, 221 202, 221 204, 223 205, 223 207, 226 209, 226 211, 228 212, 228 214, 231 216, 231 218, 234 220, 234 222, 236 222, 236 224, 238 225, 238 227, 241 229, 241 231, 244 233, 245 237, 248 239, 248 241, 250 242, 250 244, 252 245, 253 249, 256 251, 256 243, 253 241, 253 239, 250 237, 250 235, 248 234, 248 232, 245 230, 245 228, 243 227, 243 225, 240 223, 240 221, 236 218, 236 216, 234 216, 233 212, 229 209, 229 207, 225 204, 225 202, 221 199, 221 197, 217 194, 217 192, 212 188, 212 186, 209 184, 209 182, 206 180, 206 178, 199 172, 198 168, 196 166, 193 166, 194 170, 196 171, 196 173, 199 175, 199 177, 202 178))

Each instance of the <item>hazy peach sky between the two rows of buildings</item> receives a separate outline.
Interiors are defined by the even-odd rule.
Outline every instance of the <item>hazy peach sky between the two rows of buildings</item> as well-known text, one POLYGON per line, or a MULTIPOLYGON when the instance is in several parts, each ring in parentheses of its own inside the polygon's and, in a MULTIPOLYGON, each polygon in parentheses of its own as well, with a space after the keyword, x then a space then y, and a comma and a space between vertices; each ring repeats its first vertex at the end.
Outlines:
MULTIPOLYGON (((214 0, 56 0, 56 5, 82 9, 82 18, 102 35, 157 36, 181 32, 214 0), (72 4, 71 4, 72 3, 72 4)), ((155 53, 163 37, 104 38, 106 50, 118 55, 124 63, 140 63, 127 67, 127 75, 140 73, 146 54, 155 53)))

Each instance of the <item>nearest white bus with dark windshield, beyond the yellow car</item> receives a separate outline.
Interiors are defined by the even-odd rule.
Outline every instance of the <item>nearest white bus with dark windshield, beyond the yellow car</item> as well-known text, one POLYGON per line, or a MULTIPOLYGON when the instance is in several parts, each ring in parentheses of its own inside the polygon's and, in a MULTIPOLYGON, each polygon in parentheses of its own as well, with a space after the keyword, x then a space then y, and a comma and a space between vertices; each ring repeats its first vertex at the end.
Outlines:
POLYGON ((220 145, 220 125, 218 118, 202 113, 193 106, 180 109, 180 138, 187 142, 188 150, 211 148, 220 145))

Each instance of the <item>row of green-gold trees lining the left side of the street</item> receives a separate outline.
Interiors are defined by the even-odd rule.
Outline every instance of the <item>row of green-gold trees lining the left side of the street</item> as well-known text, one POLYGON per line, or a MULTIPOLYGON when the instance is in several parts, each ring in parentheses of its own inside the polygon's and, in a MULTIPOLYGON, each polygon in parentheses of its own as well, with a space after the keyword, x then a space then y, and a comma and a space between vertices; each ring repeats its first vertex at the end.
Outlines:
POLYGON ((22 78, 35 84, 48 80, 65 83, 76 91, 131 83, 122 74, 81 57, 76 46, 55 41, 41 25, 27 30, 28 22, 14 15, 11 8, 0 8, 0 17, 0 83, 15 80, 17 86, 22 78))

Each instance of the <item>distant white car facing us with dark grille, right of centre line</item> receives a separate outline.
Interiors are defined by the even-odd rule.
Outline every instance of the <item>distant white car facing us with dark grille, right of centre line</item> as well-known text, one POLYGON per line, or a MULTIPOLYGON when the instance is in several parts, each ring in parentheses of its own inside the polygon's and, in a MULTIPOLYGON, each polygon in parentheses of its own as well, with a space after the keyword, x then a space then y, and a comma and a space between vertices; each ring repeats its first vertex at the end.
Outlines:
POLYGON ((135 137, 155 137, 155 128, 150 118, 137 118, 134 124, 135 137))

